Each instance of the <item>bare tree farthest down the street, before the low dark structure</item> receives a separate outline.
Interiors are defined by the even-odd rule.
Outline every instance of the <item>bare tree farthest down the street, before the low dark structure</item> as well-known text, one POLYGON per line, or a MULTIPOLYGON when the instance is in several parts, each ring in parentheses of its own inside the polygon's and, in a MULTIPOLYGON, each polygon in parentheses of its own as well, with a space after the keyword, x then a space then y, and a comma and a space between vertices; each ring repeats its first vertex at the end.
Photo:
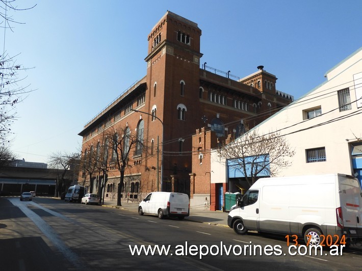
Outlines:
POLYGON ((75 172, 72 172, 72 175, 69 176, 70 170, 76 167, 76 163, 79 164, 79 154, 78 153, 62 153, 61 151, 52 153, 49 156, 48 168, 59 170, 60 179, 57 182, 56 192, 59 195, 65 192, 65 188, 70 184, 70 177, 73 177, 75 181, 75 172), (68 181, 66 181, 65 176, 68 175, 68 181))

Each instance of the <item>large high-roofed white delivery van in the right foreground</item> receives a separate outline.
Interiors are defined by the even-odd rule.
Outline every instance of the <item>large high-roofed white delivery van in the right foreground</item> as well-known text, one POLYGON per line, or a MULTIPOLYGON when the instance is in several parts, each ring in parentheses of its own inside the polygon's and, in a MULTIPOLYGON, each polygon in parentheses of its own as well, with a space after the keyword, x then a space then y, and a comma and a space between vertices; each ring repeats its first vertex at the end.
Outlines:
POLYGON ((321 235, 345 235, 351 242, 362 238, 361 208, 361 188, 352 176, 262 178, 231 208, 227 224, 238 234, 295 234, 306 242, 312 235, 312 245, 319 245, 321 235))

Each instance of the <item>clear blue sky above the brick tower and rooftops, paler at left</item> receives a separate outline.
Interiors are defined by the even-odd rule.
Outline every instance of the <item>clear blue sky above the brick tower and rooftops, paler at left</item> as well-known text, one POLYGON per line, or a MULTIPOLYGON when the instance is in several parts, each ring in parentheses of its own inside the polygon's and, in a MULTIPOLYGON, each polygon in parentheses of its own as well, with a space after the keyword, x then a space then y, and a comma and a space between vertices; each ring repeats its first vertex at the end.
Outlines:
MULTIPOLYGON (((6 51, 35 67, 20 84, 35 90, 17 105, 12 151, 47 162, 77 152, 83 126, 146 74, 147 36, 170 10, 202 31, 201 63, 245 77, 263 65, 276 88, 298 98, 362 46, 362 1, 16 0, 6 51)), ((4 30, 0 29, 3 41, 4 30)), ((3 44, 1 42, 0 44, 3 44)), ((2 46, 2 45, 1 45, 2 46)))

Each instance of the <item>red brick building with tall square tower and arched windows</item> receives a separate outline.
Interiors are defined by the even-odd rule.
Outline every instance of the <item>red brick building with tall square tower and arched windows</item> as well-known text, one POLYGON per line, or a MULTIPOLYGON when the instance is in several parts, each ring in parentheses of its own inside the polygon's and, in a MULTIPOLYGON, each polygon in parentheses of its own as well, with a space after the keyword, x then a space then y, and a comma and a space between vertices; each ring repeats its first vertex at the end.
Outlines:
MULTIPOLYGON (((142 149, 136 146, 128 157, 123 200, 140 199, 141 193, 161 187, 163 191, 190 194, 189 174, 195 151, 192 135, 198 127, 214 131, 223 141, 228 134, 240 134, 241 121, 252 127, 293 99, 275 89, 277 78, 262 66, 240 79, 206 63, 201 65, 200 36, 197 23, 168 11, 148 35, 146 76, 79 133, 83 154, 108 146, 110 139, 105 135, 111 128, 130 129, 144 143, 142 149), (157 155, 158 139, 162 151, 159 154, 163 155, 157 155)), ((107 159, 106 194, 116 197, 120 174, 111 156, 107 159)), ((102 173, 94 173, 93 178, 96 187, 102 173)), ((85 172, 80 179, 89 185, 85 172)))

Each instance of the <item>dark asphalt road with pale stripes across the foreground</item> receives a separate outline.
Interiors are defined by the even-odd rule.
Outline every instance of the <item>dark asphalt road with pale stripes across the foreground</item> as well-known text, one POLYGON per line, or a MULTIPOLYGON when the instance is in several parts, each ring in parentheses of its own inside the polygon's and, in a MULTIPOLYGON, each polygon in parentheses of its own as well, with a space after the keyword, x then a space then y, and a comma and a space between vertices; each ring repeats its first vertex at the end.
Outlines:
POLYGON ((18 197, 0 197, 2 271, 356 270, 362 266, 358 251, 344 249, 341 256, 331 256, 330 252, 291 256, 283 237, 237 235, 226 227, 160 220, 137 212, 52 198, 21 202, 18 197), (148 245, 158 245, 159 249, 164 245, 168 255, 164 250, 160 256, 156 250, 156 255, 146 256, 141 251, 138 256, 135 246, 141 250, 142 245, 146 249, 148 245))

